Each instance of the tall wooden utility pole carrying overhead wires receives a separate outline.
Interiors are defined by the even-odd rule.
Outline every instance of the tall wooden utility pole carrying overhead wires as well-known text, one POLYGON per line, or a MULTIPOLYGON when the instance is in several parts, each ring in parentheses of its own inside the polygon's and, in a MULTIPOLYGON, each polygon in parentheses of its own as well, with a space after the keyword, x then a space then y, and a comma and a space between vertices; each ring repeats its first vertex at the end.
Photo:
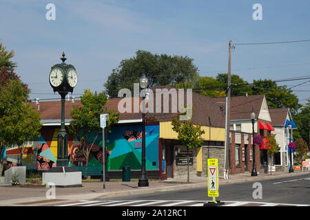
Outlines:
POLYGON ((227 80, 227 96, 226 96, 226 115, 225 115, 225 168, 224 168, 224 179, 228 179, 229 170, 229 129, 230 129, 230 85, 231 85, 231 41, 229 41, 228 47, 228 80, 227 80))

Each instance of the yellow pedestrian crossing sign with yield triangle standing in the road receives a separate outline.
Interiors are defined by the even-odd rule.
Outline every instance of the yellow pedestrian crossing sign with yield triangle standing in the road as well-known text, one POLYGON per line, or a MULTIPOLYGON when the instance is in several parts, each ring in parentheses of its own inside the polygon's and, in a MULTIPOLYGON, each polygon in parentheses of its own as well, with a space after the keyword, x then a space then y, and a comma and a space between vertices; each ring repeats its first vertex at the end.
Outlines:
POLYGON ((208 159, 208 197, 218 197, 218 159, 208 159))

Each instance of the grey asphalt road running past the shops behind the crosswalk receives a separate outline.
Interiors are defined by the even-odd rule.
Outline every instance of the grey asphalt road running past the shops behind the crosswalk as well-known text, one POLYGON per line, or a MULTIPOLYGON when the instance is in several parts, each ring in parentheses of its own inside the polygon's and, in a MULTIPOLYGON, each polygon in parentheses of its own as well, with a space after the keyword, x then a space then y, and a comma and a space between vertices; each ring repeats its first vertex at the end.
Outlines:
MULTIPOLYGON (((223 184, 219 186, 220 201, 254 201, 271 203, 292 203, 310 205, 310 174, 298 175, 297 177, 282 177, 278 179, 260 180, 256 186, 256 181, 247 181, 238 184, 223 184), (258 186, 261 190, 258 192, 258 186), (255 192, 254 192, 255 191, 255 192), (256 198, 254 198, 256 197, 256 198)), ((111 200, 103 199, 103 200, 111 200)), ((117 199, 127 200, 211 200, 207 197, 207 188, 194 188, 189 190, 177 190, 168 192, 154 192, 147 195, 134 195, 127 197, 117 197, 117 199)))

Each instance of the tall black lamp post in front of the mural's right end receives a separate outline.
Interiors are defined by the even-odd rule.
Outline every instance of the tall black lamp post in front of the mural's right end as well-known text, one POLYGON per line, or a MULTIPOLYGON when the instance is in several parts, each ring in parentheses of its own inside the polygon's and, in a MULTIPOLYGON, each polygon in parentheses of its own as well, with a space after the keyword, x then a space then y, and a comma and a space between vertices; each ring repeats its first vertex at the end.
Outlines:
MULTIPOLYGON (((145 74, 140 78, 141 89, 147 88, 147 78, 145 74)), ((145 96, 142 98, 142 159, 141 159, 141 174, 139 175, 138 187, 149 186, 149 179, 147 179, 147 174, 145 170, 145 96)))

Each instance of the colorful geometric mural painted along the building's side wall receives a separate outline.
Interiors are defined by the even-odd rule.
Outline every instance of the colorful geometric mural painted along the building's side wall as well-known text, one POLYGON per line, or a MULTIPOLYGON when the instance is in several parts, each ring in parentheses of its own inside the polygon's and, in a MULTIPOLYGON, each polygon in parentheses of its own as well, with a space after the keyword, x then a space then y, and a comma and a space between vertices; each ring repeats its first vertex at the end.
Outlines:
MULTIPOLYGON (((141 170, 142 153, 142 127, 138 126, 113 126, 112 132, 107 132, 107 170, 122 170, 129 165, 132 170, 141 170)), ((27 169, 48 170, 56 166, 57 135, 60 128, 43 126, 41 137, 31 146, 27 146, 23 155, 23 166, 27 169)), ((94 134, 92 134, 94 138, 94 134)), ((146 168, 158 170, 158 138, 159 125, 152 124, 145 127, 146 137, 146 168)), ((103 151, 102 134, 99 135, 92 146, 88 167, 91 170, 102 171, 103 151)), ((19 149, 12 148, 6 152, 8 161, 19 162, 19 149)), ((68 148, 69 166, 85 169, 86 159, 83 155, 81 143, 69 138, 68 148)))

